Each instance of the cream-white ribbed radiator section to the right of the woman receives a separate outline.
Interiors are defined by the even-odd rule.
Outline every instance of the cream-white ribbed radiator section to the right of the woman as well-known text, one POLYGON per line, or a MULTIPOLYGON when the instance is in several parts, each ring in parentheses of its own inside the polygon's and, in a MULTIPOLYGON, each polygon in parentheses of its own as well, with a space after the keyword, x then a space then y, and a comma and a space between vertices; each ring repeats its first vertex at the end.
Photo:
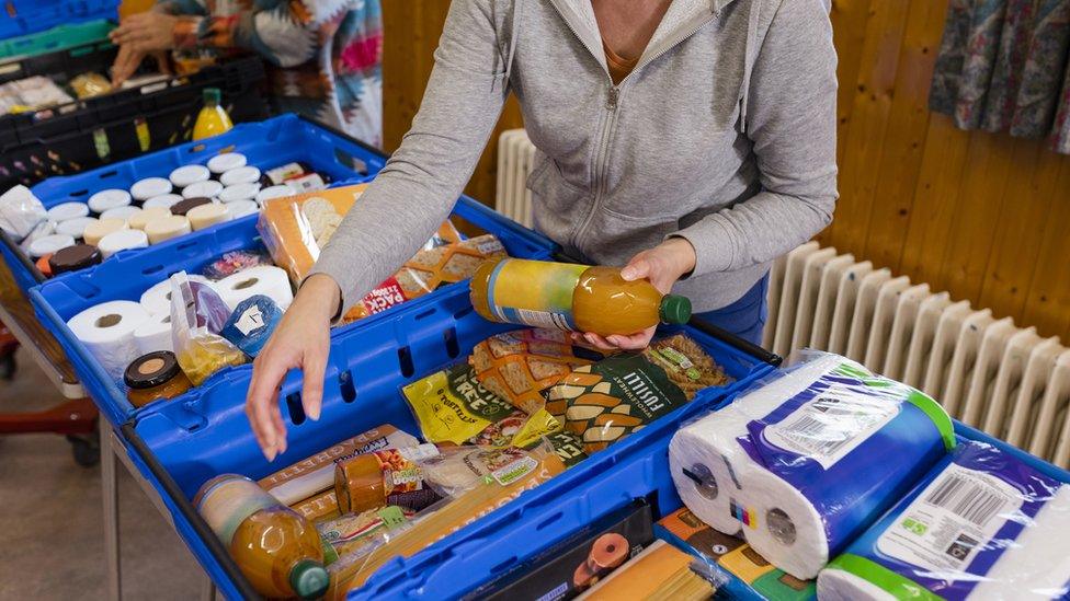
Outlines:
POLYGON ((953 417, 1070 467, 1070 349, 1058 337, 817 242, 776 262, 769 301, 763 342, 774 352, 846 355, 920 388, 953 417))

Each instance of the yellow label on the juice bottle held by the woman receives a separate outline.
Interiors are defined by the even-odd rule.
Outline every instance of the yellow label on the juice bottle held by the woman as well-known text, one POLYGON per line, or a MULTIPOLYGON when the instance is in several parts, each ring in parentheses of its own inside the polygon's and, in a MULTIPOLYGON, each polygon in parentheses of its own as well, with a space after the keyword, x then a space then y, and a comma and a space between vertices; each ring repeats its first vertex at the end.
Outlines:
POLYGON ((499 320, 576 331, 572 292, 587 265, 505 259, 490 276, 487 300, 499 320))

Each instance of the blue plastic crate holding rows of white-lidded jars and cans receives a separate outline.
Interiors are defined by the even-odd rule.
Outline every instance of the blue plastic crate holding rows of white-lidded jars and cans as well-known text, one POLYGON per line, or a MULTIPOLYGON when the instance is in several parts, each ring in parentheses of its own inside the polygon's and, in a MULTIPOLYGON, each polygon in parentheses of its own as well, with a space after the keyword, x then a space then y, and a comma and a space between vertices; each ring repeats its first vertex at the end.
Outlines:
MULTIPOLYGON (((241 152, 250 164, 264 169, 291 161, 303 161, 334 181, 374 175, 386 164, 386 157, 378 150, 344 134, 295 115, 283 115, 261 123, 238 125, 221 136, 184 143, 78 175, 52 177, 31 189, 46 208, 71 200, 84 203, 99 190, 129 189, 138 180, 150 176, 167 177, 178 166, 203 164, 212 157, 227 151, 241 152)), ((198 233, 194 232, 181 240, 191 240, 198 233)), ((15 282, 23 291, 29 291, 43 281, 44 277, 21 250, 10 244, 10 239, 4 240, 5 243, 0 244, 0 252, 8 262, 15 282)), ((129 253, 146 253, 151 252, 151 249, 129 253)))

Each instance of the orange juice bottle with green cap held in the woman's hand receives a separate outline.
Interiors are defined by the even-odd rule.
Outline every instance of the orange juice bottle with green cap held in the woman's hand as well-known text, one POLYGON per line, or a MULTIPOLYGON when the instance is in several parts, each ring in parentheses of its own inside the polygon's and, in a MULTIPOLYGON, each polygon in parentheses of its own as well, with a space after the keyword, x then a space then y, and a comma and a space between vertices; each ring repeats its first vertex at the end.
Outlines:
POLYGON ((664 294, 642 279, 625 281, 617 267, 590 267, 505 258, 479 266, 471 278, 471 304, 501 322, 629 335, 658 322, 691 319, 691 301, 664 294))

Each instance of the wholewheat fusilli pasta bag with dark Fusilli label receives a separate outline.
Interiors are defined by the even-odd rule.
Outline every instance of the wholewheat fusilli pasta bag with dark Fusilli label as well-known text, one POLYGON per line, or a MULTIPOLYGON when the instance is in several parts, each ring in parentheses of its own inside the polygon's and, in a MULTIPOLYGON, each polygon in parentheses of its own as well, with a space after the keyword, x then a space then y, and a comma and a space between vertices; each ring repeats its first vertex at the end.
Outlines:
POLYGON ((546 391, 546 409, 594 453, 731 380, 683 334, 579 367, 546 391))

